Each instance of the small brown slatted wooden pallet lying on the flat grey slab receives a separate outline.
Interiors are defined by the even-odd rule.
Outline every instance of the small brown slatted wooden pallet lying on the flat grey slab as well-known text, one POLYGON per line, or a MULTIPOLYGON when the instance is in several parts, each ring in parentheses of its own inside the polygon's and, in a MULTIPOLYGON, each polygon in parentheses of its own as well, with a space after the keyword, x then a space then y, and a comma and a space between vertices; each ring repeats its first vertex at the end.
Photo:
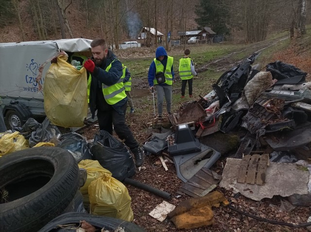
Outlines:
POLYGON ((268 164, 268 154, 245 155, 238 173, 238 182, 246 182, 252 185, 264 185, 268 164))

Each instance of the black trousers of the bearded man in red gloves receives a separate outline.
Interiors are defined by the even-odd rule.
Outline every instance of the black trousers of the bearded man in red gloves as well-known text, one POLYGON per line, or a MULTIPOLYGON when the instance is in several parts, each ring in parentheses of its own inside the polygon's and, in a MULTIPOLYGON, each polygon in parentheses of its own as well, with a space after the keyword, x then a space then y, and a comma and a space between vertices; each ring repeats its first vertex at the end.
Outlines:
POLYGON ((97 110, 97 118, 100 130, 105 130, 112 135, 113 128, 117 133, 118 137, 123 140, 126 146, 130 150, 135 149, 139 146, 136 139, 134 139, 132 131, 125 124, 125 111, 126 105, 122 106, 123 114, 118 113, 114 108, 109 106, 105 110, 97 110), (114 127, 112 127, 112 124, 114 127))

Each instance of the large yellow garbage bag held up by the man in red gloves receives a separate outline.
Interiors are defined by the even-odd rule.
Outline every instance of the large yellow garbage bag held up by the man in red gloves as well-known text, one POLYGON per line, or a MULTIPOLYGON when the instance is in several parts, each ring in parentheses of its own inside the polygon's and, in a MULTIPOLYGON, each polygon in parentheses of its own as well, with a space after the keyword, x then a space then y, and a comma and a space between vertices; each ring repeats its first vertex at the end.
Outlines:
POLYGON ((44 110, 52 124, 63 127, 84 125, 87 116, 86 69, 77 70, 65 55, 57 57, 44 80, 44 110))

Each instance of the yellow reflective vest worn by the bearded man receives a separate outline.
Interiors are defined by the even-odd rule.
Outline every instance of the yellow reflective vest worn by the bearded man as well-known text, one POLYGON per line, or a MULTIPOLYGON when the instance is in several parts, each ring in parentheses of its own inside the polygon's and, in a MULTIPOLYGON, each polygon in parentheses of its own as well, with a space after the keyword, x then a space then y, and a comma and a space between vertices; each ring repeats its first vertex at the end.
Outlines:
MULTIPOLYGON (((108 67, 106 67, 106 72, 109 71, 109 69, 111 68, 111 64, 113 62, 111 62, 108 65, 108 67)), ((113 85, 105 85, 103 83, 102 88, 103 88, 104 98, 109 105, 114 105, 126 97, 122 77, 120 77, 118 82, 113 85)))

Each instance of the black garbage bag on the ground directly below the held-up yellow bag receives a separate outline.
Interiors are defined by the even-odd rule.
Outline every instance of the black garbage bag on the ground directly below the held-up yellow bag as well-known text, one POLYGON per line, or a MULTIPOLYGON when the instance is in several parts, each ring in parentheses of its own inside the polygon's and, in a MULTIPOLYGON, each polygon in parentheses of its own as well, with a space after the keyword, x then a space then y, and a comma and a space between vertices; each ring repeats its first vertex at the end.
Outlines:
POLYGON ((32 132, 29 138, 29 146, 33 147, 39 142, 48 142, 52 138, 60 138, 61 133, 56 125, 50 123, 48 118, 45 118, 43 123, 32 132))

